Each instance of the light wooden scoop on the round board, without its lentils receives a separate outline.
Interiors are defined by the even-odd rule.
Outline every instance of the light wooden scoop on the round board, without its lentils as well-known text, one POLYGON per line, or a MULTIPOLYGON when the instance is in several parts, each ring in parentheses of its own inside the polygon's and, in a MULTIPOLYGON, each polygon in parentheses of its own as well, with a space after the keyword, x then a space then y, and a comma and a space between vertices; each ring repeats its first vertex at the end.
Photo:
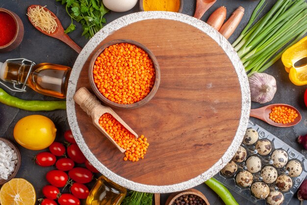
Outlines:
POLYGON ((84 110, 87 115, 91 116, 93 119, 93 124, 121 151, 125 152, 126 150, 118 146, 113 138, 102 128, 99 124, 99 118, 104 113, 111 114, 118 122, 120 122, 129 132, 131 132, 135 138, 138 138, 138 135, 126 124, 126 122, 119 117, 111 108, 105 107, 96 99, 96 97, 87 89, 80 88, 74 95, 75 102, 80 105, 82 110, 84 110))

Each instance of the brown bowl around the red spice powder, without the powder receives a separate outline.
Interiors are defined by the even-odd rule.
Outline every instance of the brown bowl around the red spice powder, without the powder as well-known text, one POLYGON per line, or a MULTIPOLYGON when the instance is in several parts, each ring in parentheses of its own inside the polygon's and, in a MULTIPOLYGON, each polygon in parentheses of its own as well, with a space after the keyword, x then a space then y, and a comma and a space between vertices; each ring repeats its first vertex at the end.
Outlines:
POLYGON ((0 8, 0 12, 8 13, 11 17, 13 17, 17 27, 14 38, 8 44, 0 46, 0 53, 4 53, 15 49, 22 42, 24 37, 24 24, 19 16, 13 11, 7 10, 5 8, 0 8))

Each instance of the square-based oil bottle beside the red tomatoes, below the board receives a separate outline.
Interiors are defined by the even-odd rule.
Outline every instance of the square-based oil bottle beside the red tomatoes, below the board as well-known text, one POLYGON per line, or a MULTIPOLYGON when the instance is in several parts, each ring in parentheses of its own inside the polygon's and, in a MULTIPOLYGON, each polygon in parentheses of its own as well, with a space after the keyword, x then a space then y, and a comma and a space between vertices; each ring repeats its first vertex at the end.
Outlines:
POLYGON ((86 199, 86 205, 120 205, 126 193, 126 188, 100 176, 86 199))

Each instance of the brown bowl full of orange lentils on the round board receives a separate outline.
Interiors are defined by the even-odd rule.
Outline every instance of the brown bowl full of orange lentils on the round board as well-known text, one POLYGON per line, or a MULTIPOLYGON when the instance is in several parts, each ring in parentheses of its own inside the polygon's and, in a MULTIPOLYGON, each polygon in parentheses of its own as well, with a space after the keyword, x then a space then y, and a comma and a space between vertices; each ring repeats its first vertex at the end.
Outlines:
POLYGON ((110 107, 133 109, 148 103, 160 84, 160 68, 153 53, 128 39, 105 43, 89 64, 90 85, 110 107))

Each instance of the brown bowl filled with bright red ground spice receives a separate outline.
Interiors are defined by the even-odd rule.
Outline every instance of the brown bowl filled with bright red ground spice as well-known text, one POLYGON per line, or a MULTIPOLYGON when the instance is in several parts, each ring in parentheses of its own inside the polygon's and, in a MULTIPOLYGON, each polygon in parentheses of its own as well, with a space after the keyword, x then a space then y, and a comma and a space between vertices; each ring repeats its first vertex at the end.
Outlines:
POLYGON ((19 16, 5 8, 0 8, 0 53, 8 52, 22 42, 24 24, 19 16))

